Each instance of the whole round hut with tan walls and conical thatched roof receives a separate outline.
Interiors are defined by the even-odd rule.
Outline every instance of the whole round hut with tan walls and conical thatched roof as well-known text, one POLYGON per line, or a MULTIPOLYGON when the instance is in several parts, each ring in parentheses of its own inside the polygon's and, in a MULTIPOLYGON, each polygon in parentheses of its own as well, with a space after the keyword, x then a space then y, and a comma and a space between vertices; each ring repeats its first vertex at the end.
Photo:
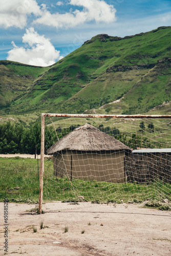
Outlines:
POLYGON ((70 179, 123 183, 124 157, 130 148, 86 123, 58 140, 47 151, 53 154, 54 175, 70 179))

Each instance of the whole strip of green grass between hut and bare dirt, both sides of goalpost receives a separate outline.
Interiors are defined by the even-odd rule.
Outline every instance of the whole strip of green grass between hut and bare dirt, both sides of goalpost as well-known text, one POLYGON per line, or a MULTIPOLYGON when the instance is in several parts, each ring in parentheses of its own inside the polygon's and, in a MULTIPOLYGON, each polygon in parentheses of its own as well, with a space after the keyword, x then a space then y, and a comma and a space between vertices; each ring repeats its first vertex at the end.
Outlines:
MULTIPOLYGON (((0 158, 0 166, 1 202, 7 197, 10 202, 38 203, 37 160, 0 158)), ((170 200, 170 195, 171 185, 162 181, 148 184, 118 184, 56 178, 53 176, 52 162, 45 161, 44 201, 79 202, 77 197, 82 196, 84 201, 95 203, 120 203, 121 200, 133 203, 142 202, 147 198, 158 201, 164 198, 170 200)))

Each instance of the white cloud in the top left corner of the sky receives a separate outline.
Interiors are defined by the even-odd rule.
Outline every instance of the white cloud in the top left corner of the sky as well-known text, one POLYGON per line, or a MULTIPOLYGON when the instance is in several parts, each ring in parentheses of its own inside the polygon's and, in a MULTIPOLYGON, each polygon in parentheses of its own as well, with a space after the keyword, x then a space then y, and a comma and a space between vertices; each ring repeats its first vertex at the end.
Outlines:
POLYGON ((40 15, 40 7, 35 0, 0 0, 0 26, 5 28, 24 28, 27 25, 27 15, 40 15))

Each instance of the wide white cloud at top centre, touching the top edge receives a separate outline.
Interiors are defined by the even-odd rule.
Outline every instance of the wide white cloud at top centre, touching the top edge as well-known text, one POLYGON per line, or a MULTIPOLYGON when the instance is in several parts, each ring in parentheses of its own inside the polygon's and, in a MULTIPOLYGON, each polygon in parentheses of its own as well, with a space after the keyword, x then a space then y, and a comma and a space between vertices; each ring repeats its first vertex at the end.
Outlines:
MULTIPOLYGON (((59 2, 58 2, 59 3, 59 2)), ((51 14, 45 10, 35 23, 44 24, 58 28, 74 27, 85 22, 95 20, 95 22, 110 23, 116 20, 116 9, 113 5, 108 5, 103 0, 70 0, 70 5, 79 6, 83 9, 70 11, 64 14, 51 14)))

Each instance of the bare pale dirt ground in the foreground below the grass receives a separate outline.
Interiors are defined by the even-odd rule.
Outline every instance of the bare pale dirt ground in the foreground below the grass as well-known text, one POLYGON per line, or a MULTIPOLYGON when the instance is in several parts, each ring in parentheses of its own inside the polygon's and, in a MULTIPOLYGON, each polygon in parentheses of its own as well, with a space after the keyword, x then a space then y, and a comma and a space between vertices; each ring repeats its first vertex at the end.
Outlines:
MULTIPOLYGON (((37 205, 8 204, 7 255, 171 255, 170 211, 141 208, 136 204, 90 202, 46 203, 43 215, 26 211, 35 207, 37 205), (33 232, 32 225, 37 232, 33 232), (64 231, 65 227, 69 227, 68 232, 64 231)), ((4 255, 4 227, 7 227, 3 218, 4 203, 0 203, 0 210, 0 255, 4 255)))

